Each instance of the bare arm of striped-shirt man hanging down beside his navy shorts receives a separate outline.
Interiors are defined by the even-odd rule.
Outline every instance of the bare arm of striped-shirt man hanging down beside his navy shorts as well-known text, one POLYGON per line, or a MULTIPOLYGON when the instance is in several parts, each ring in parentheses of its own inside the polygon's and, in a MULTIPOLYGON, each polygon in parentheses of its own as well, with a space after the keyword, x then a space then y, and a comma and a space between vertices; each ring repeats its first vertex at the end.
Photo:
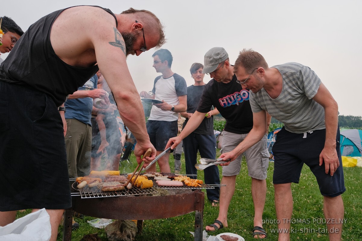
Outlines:
POLYGON ((336 151, 338 104, 323 83, 320 84, 313 100, 323 106, 325 115, 325 142, 324 148, 319 155, 319 165, 322 165, 324 161, 325 173, 330 171, 331 176, 333 176, 333 173, 340 165, 336 151))

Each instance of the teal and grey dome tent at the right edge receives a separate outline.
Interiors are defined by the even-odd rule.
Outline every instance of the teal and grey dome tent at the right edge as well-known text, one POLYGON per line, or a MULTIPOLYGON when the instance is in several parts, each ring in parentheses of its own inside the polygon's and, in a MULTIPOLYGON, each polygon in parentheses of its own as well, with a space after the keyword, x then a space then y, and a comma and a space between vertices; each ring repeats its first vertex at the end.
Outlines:
POLYGON ((342 156, 362 156, 362 130, 341 130, 340 143, 342 156))

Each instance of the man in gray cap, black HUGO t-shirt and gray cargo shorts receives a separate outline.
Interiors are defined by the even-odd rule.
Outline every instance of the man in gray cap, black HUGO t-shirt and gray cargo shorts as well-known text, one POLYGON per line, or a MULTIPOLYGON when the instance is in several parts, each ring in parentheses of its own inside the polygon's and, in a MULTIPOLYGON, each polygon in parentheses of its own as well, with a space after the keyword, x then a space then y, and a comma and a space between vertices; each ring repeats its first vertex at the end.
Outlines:
MULTIPOLYGON (((211 106, 218 109, 226 119, 224 128, 222 152, 232 151, 247 136, 253 127, 253 113, 249 104, 249 90, 236 82, 233 66, 230 64, 229 56, 224 48, 214 47, 205 54, 205 67, 202 73, 210 74, 212 78, 203 90, 200 103, 193 116, 190 117, 184 130, 169 139, 167 146, 172 145, 174 149, 178 143, 193 132, 210 111, 211 106)), ((270 118, 268 118, 270 123, 270 118)), ((206 231, 216 231, 224 226, 227 227, 227 212, 231 198, 235 191, 236 175, 240 173, 241 157, 245 155, 248 164, 248 173, 252 178, 252 197, 254 202, 254 228, 253 236, 265 238, 266 233, 262 228, 262 213, 266 196, 266 172, 269 165, 269 152, 267 149, 267 137, 265 135, 254 146, 241 153, 230 165, 224 166, 221 184, 226 187, 220 188, 219 216, 214 224, 207 225, 206 231)))

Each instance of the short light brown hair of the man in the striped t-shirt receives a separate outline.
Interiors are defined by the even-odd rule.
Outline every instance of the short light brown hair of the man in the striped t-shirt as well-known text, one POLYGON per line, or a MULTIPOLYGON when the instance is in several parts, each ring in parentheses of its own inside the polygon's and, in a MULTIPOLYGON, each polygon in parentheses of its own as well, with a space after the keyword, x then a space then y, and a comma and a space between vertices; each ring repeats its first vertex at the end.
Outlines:
POLYGON ((251 73, 254 69, 263 67, 264 69, 268 68, 268 63, 266 63, 264 57, 252 50, 251 48, 243 49, 240 51, 239 56, 234 64, 234 73, 240 68, 243 67, 247 73, 251 73))

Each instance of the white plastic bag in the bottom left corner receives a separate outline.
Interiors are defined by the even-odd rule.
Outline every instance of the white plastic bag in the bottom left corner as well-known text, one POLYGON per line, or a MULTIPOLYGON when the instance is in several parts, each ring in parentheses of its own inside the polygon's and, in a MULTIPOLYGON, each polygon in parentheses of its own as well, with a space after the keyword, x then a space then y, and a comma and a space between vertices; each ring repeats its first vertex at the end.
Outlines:
POLYGON ((50 217, 45 208, 0 227, 0 241, 49 241, 50 217))

